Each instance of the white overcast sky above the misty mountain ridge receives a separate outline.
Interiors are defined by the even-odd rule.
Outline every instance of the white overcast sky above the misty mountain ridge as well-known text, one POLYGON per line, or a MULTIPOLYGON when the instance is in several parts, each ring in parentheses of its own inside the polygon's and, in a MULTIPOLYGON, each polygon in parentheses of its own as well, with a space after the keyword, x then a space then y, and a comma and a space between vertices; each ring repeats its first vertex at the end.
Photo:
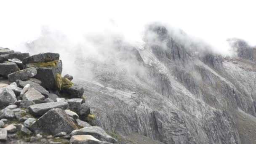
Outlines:
POLYGON ((254 0, 1 0, 0 46, 17 50, 19 43, 38 37, 42 25, 74 40, 107 29, 139 41, 144 24, 160 21, 222 51, 229 37, 256 44, 255 4, 254 0))

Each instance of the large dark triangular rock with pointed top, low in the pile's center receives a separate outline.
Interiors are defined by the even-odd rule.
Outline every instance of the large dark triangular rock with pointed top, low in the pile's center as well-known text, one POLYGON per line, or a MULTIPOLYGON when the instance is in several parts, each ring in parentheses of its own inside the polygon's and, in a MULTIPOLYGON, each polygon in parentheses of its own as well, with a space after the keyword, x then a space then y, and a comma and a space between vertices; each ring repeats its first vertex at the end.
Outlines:
POLYGON ((43 132, 48 135, 56 135, 60 132, 71 133, 77 127, 64 110, 56 108, 46 112, 30 126, 30 129, 35 133, 43 132))

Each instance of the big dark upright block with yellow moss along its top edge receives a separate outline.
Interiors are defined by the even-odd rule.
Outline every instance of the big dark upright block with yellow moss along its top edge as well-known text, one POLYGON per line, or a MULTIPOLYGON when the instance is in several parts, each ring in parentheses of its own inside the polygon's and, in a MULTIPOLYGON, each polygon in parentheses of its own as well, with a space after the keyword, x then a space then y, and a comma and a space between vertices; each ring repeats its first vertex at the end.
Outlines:
POLYGON ((35 78, 42 81, 42 86, 49 90, 60 90, 61 89, 61 72, 62 72, 62 61, 55 60, 48 63, 34 63, 27 64, 27 67, 36 67, 37 75, 35 78), (47 77, 47 78, 45 78, 47 77))

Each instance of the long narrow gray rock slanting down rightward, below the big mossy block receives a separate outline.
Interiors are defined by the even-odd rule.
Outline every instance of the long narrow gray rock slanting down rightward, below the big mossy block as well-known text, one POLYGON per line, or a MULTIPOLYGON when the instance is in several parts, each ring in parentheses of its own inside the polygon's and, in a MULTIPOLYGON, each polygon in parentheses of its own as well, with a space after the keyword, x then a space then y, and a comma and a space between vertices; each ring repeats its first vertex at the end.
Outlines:
POLYGON ((39 91, 40 93, 42 93, 42 95, 44 95, 46 98, 49 95, 49 92, 45 90, 45 88, 43 88, 43 86, 34 83, 32 81, 22 81, 22 80, 16 80, 16 83, 19 87, 24 88, 24 86, 26 86, 27 84, 30 85, 31 88, 35 88, 37 91, 39 91))

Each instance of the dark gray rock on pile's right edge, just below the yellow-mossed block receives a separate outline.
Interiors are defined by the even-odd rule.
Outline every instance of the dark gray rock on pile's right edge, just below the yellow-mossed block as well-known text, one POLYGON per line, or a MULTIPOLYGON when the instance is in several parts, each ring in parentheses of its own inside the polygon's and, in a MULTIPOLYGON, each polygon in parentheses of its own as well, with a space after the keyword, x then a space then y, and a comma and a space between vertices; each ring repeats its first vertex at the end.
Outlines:
POLYGON ((62 88, 61 93, 65 93, 70 98, 81 98, 83 96, 83 88, 73 83, 69 88, 62 88))

